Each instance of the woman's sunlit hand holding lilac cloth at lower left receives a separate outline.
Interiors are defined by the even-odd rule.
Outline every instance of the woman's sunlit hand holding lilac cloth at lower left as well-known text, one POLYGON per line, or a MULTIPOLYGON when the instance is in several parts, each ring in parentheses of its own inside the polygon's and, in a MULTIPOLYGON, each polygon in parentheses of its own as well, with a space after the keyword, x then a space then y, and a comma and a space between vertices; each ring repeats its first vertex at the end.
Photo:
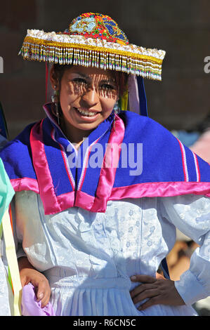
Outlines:
POLYGON ((22 287, 32 283, 36 288, 37 301, 41 301, 41 308, 44 308, 51 297, 51 287, 48 280, 41 272, 33 268, 26 257, 19 258, 18 265, 22 287))

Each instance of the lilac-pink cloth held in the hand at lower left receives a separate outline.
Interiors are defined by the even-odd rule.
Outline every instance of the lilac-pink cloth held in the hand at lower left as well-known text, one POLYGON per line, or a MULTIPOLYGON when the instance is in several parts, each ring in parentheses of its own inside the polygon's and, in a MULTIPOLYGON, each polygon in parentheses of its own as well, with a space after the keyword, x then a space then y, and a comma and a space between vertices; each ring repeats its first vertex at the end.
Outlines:
POLYGON ((31 283, 22 288, 21 309, 23 316, 55 316, 51 303, 41 308, 41 301, 37 301, 35 289, 31 283))

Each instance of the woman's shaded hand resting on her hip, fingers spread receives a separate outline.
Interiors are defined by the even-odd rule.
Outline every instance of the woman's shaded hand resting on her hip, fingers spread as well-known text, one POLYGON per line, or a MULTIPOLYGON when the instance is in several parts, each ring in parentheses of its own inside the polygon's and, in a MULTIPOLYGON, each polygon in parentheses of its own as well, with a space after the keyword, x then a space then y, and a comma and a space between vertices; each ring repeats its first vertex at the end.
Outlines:
POLYGON ((183 299, 178 294, 174 282, 164 277, 152 277, 148 275, 136 275, 131 277, 132 282, 140 282, 130 294, 133 303, 140 303, 148 299, 143 305, 140 305, 138 310, 145 310, 146 308, 162 304, 162 305, 185 305, 183 299))

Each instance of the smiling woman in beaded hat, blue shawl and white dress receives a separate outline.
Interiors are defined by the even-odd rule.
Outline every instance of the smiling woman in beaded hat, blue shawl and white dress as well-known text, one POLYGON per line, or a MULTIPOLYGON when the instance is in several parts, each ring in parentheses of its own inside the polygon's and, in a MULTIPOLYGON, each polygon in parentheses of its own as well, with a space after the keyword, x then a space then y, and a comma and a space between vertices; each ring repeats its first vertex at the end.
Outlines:
POLYGON ((209 164, 155 121, 115 113, 129 88, 142 114, 136 77, 161 79, 164 52, 86 13, 64 34, 29 30, 21 53, 55 63, 47 118, 1 152, 22 284, 37 286, 42 306, 51 295, 55 315, 196 315, 190 305, 210 292, 209 164), (156 279, 175 226, 202 247, 180 281, 156 279))

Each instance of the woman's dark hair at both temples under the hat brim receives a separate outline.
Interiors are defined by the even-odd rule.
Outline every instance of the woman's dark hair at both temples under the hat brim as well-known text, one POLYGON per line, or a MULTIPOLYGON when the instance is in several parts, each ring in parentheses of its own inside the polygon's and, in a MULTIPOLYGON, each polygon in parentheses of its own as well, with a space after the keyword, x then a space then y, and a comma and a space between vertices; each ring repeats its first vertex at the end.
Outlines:
MULTIPOLYGON (((63 77, 65 70, 70 69, 71 66, 72 65, 60 65, 60 64, 53 65, 55 78, 58 79, 59 83, 63 77)), ((123 93, 128 89, 127 84, 128 84, 129 74, 115 70, 110 70, 110 73, 112 74, 112 77, 114 78, 114 81, 117 85, 119 96, 122 96, 123 93)))

